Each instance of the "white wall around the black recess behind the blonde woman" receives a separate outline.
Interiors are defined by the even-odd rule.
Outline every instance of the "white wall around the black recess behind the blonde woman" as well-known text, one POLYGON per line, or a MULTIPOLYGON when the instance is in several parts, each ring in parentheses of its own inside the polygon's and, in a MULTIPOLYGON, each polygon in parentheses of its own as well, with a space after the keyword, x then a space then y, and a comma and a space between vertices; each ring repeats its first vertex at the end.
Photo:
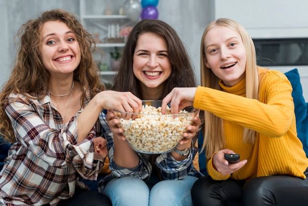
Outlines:
MULTIPOLYGON (((212 0, 212 16, 241 23, 252 38, 308 37, 308 1, 303 0, 212 0)), ((308 102, 308 65, 270 67, 286 72, 298 68, 308 102)))

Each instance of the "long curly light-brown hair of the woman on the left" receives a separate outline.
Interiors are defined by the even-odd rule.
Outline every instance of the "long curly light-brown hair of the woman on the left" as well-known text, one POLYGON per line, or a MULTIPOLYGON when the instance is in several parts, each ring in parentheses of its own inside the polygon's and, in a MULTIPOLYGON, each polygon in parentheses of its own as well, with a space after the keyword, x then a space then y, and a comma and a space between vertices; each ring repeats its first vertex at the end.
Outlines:
POLYGON ((105 90, 104 84, 100 82, 99 69, 92 56, 94 51, 99 51, 102 55, 103 52, 96 48, 92 35, 85 30, 79 17, 63 9, 41 13, 36 19, 27 21, 19 28, 15 36, 19 39, 15 64, 0 93, 0 134, 9 142, 14 142, 15 136, 11 122, 4 111, 7 96, 16 91, 28 97, 31 94, 31 98, 35 96, 39 100, 48 92, 50 73, 44 68, 39 52, 39 46, 42 43, 41 29, 48 21, 61 21, 76 35, 81 51, 81 62, 74 70, 73 78, 82 88, 81 105, 84 106, 86 93, 94 96, 105 90))

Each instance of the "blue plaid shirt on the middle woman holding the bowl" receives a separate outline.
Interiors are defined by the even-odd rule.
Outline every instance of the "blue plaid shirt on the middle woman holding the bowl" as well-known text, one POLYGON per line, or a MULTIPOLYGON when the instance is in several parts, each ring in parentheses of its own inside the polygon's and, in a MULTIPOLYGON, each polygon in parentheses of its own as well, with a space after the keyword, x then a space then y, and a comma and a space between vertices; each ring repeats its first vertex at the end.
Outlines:
MULTIPOLYGON (((102 192, 104 187, 113 178, 134 176, 143 180, 147 180, 152 173, 152 165, 149 161, 149 154, 136 152, 139 156, 139 165, 135 168, 123 168, 117 165, 113 159, 113 135, 106 121, 106 110, 103 110, 99 115, 99 121, 105 131, 105 137, 108 142, 108 157, 111 174, 104 177, 98 183, 98 190, 102 192)), ((191 147, 188 157, 183 161, 177 161, 171 156, 171 152, 163 153, 156 158, 155 165, 160 169, 163 179, 184 179, 186 175, 203 176, 193 166, 193 159, 197 153, 197 149, 191 147)))

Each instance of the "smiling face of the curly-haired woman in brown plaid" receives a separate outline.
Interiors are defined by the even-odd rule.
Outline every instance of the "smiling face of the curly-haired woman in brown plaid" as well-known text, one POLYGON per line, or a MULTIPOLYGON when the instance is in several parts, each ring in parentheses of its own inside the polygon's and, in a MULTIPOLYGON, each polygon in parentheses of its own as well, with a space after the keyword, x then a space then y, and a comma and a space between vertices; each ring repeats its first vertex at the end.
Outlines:
POLYGON ((46 22, 41 34, 43 42, 39 51, 42 63, 51 76, 73 73, 81 60, 75 34, 61 21, 46 22))

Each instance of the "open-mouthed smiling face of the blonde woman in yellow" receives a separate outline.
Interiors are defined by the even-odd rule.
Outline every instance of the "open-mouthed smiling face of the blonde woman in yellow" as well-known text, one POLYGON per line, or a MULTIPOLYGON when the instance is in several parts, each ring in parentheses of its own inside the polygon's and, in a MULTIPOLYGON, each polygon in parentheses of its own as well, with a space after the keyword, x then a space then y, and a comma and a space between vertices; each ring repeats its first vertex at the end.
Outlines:
POLYGON ((225 26, 208 31, 204 40, 205 66, 232 87, 245 77, 246 51, 241 35, 225 26))

